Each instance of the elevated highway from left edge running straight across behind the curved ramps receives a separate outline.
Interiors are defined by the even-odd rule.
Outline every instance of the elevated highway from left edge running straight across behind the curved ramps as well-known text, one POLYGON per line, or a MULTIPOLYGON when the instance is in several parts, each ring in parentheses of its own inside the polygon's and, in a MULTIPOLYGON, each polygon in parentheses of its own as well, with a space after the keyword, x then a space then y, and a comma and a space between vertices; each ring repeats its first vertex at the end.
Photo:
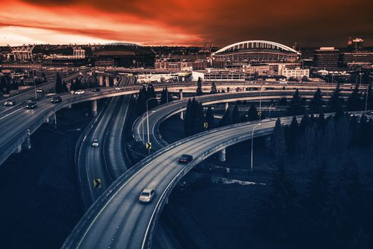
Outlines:
MULTIPOLYGON (((238 83, 224 83, 225 88, 234 87, 238 83), (230 85, 233 84, 233 85, 230 85)), ((239 83, 241 86, 248 86, 247 83, 239 83)), ((154 84, 156 91, 161 91, 164 87, 168 87, 169 90, 179 91, 180 89, 185 91, 195 92, 196 83, 159 83, 154 84)), ((282 87, 280 85, 273 85, 273 87, 282 87)), ((0 117, 0 164, 9 157, 9 155, 19 149, 20 145, 29 138, 30 134, 36 131, 38 127, 48 120, 48 117, 53 115, 58 110, 64 107, 68 107, 78 102, 85 102, 90 100, 98 100, 105 97, 115 97, 120 95, 131 95, 137 93, 142 88, 142 85, 125 86, 122 90, 115 90, 115 87, 101 88, 100 92, 90 92, 87 90, 83 95, 71 95, 69 93, 63 93, 62 102, 59 104, 51 103, 51 96, 45 97, 38 100, 38 107, 33 110, 26 110, 21 107, 17 110, 12 110, 0 117)), ((310 86, 310 88, 315 88, 310 86)), ((332 88, 331 88, 332 89, 332 88)), ((258 92, 258 91, 257 91, 258 92)), ((263 91, 266 92, 266 91, 263 91)), ((293 90, 288 90, 293 92, 293 90)))

